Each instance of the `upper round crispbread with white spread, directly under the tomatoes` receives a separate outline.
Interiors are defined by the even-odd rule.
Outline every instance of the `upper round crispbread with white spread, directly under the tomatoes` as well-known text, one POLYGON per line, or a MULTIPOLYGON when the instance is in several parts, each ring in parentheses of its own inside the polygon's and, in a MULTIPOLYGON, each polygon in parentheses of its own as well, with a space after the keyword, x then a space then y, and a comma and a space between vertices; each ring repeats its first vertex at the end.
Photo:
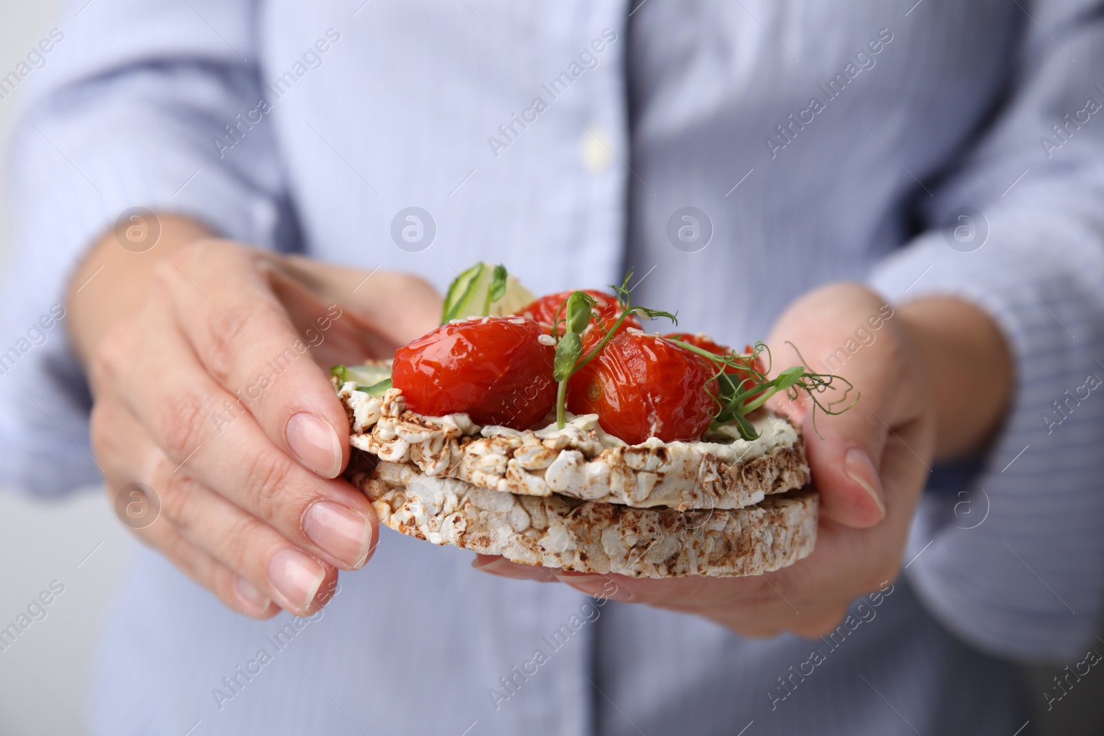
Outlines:
POLYGON ((395 388, 371 396, 352 382, 335 378, 333 385, 349 415, 353 447, 416 466, 428 477, 497 492, 686 511, 751 506, 810 481, 800 430, 793 424, 790 444, 725 462, 684 442, 605 447, 594 430, 555 439, 532 430, 481 436, 467 415, 425 417, 405 410, 395 388))

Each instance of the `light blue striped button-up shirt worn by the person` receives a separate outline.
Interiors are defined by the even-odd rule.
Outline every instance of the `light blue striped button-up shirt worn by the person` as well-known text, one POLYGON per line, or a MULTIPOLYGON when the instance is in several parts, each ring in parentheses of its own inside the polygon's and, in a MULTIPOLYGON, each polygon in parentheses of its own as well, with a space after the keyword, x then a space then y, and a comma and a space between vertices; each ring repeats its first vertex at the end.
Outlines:
POLYGON ((19 81, 33 103, 0 342, 7 484, 61 493, 96 477, 64 317, 39 320, 132 206, 442 287, 476 259, 538 292, 631 266, 641 303, 732 344, 829 280, 867 280, 891 303, 957 295, 999 322, 1017 367, 999 437, 936 470, 904 574, 832 637, 745 640, 598 606, 391 533, 323 614, 255 622, 144 552, 86 723, 113 736, 1013 733, 1023 701, 1001 658, 1080 661, 1104 600, 1102 10, 72 3, 63 40, 19 81), (421 242, 401 236, 412 206, 432 218, 421 242))

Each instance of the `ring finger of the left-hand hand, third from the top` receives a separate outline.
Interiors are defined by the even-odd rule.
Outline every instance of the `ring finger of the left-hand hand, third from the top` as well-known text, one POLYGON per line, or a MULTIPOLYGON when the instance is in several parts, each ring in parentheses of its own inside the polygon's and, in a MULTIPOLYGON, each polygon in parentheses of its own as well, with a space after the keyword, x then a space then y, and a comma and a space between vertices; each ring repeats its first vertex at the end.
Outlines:
MULTIPOLYGON (((121 405, 102 403, 95 426, 97 430, 110 428, 108 437, 97 441, 105 473, 128 479, 125 482, 140 480, 157 495, 159 515, 149 527, 137 530, 140 534, 149 529, 156 536, 168 524, 176 535, 235 574, 233 587, 223 593, 230 595, 233 590, 257 610, 267 610, 273 599, 298 616, 320 607, 320 591, 336 585, 332 567, 174 469, 121 405)), ((163 542, 158 546, 172 552, 163 542)), ((213 573, 211 576, 219 579, 213 573)))

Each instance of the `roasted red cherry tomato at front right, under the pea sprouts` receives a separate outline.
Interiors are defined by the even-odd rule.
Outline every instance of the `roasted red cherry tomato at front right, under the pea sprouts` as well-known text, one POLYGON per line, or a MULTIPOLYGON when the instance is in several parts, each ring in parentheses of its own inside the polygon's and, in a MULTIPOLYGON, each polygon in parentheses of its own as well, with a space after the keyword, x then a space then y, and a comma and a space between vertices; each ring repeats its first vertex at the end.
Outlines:
POLYGON ((567 382, 567 408, 597 414, 630 445, 696 440, 716 413, 716 370, 704 358, 639 330, 611 340, 567 382))

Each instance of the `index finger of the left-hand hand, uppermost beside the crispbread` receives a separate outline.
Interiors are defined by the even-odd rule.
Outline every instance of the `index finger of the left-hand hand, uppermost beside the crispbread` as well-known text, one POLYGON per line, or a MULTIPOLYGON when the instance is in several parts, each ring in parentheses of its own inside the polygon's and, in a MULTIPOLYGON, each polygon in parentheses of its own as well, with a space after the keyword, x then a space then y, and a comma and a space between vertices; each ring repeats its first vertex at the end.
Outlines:
POLYGON ((335 478, 349 460, 348 418, 273 292, 275 268, 258 252, 209 241, 159 266, 158 278, 176 323, 206 372, 233 394, 231 404, 305 467, 335 478))

